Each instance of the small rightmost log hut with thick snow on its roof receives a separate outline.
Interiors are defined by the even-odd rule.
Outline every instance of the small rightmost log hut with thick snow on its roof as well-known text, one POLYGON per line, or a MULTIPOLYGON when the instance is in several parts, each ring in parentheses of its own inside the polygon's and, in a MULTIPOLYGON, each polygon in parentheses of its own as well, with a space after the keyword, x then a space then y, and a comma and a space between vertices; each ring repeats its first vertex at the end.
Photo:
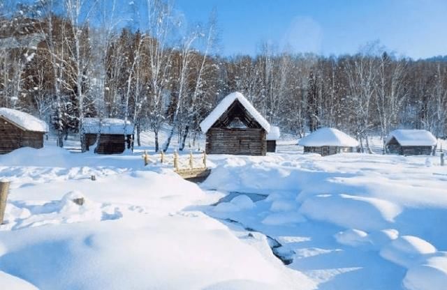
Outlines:
POLYGON ((430 155, 437 139, 427 130, 394 130, 385 142, 387 153, 400 155, 430 155))

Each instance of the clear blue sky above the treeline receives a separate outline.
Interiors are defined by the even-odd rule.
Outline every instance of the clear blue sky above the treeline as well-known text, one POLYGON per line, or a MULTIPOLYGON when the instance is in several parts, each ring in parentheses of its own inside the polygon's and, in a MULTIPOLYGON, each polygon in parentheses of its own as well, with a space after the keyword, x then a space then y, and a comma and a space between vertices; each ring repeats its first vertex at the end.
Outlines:
POLYGON ((217 10, 220 53, 258 52, 262 41, 292 52, 355 53, 379 40, 414 59, 447 54, 447 0, 175 0, 188 22, 217 10))

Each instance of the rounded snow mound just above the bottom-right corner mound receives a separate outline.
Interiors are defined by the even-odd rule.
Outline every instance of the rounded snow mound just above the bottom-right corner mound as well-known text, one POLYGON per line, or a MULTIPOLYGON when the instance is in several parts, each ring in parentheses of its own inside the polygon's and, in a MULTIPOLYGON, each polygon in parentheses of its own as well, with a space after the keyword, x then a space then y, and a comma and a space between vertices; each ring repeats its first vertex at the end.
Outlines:
POLYGON ((400 236, 380 251, 381 257, 395 264, 410 268, 418 264, 427 254, 434 254, 436 248, 416 236, 400 236))

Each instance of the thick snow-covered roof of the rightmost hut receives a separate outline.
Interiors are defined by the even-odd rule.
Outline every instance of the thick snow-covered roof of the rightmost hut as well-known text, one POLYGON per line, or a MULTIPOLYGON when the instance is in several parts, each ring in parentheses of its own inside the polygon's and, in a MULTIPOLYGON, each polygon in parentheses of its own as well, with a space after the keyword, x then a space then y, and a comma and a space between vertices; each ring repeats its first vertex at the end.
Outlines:
POLYGON ((437 139, 427 130, 394 130, 388 135, 386 144, 393 137, 401 146, 434 146, 437 144, 437 139))

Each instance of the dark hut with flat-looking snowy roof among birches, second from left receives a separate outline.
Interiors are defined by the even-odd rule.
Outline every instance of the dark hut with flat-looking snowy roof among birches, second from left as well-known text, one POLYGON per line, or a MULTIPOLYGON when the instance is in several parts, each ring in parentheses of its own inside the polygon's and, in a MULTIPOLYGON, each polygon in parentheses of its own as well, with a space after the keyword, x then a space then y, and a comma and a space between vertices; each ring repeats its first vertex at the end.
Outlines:
POLYGON ((122 119, 85 118, 81 134, 85 135, 85 148, 89 150, 96 144, 95 153, 98 154, 119 154, 133 146, 133 125, 122 119))

